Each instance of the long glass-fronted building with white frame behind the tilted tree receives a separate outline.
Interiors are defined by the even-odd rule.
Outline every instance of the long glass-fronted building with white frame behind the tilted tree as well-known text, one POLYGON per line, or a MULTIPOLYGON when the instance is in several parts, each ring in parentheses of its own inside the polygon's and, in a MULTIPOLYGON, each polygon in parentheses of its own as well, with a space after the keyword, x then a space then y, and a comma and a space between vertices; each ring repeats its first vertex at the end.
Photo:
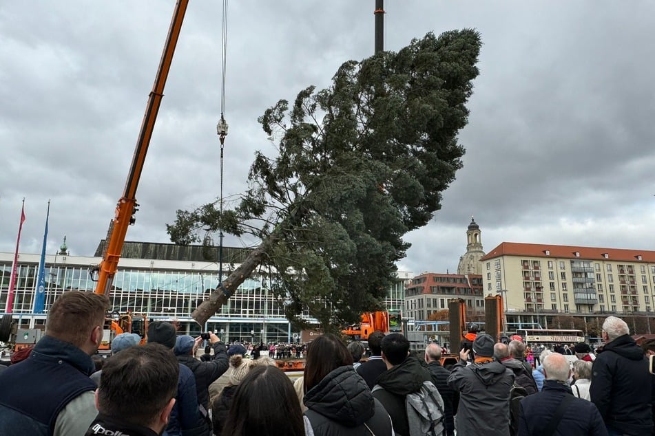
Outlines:
MULTIPOLYGON (((94 257, 68 254, 47 254, 45 259, 45 312, 34 313, 39 254, 20 254, 17 281, 14 287, 12 316, 19 328, 45 325, 48 308, 54 299, 68 290, 93 291, 90 268, 101 261, 104 241, 94 257)), ((236 268, 248 250, 223 248, 224 272, 236 268)), ((191 318, 191 312, 218 285, 218 263, 204 260, 217 258, 215 248, 202 246, 180 247, 167 243, 125 242, 123 256, 114 277, 110 294, 112 310, 118 313, 147 314, 152 320, 178 320, 180 332, 198 335, 200 331, 216 331, 225 340, 291 342, 300 338, 300 331, 284 318, 283 302, 271 292, 271 275, 258 269, 246 279, 220 312, 212 316, 206 326, 191 318), (209 252, 207 252, 209 250, 209 252)), ((13 253, 0 253, 0 314, 8 312, 13 253)), ((399 272, 398 281, 388 291, 385 306, 391 314, 404 310, 404 287, 412 277, 410 272, 399 272)), ((304 313, 303 318, 315 323, 304 313)))

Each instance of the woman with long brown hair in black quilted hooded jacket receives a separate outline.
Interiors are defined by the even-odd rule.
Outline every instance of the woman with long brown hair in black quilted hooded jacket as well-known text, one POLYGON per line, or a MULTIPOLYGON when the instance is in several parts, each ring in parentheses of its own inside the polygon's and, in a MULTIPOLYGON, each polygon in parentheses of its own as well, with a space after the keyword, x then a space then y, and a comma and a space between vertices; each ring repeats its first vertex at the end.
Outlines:
POLYGON ((353 368, 353 356, 337 336, 324 334, 307 347, 304 415, 315 436, 393 435, 391 418, 353 368))

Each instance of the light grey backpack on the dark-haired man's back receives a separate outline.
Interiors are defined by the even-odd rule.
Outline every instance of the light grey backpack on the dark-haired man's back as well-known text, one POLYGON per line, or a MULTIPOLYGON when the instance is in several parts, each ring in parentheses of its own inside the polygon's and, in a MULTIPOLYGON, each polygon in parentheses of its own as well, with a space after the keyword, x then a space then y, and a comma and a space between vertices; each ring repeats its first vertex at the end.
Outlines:
MULTIPOLYGON (((373 392, 383 389, 376 385, 373 392)), ((409 423, 408 436, 442 436, 444 435, 444 400, 433 384, 426 381, 419 391, 405 397, 405 411, 409 423)))

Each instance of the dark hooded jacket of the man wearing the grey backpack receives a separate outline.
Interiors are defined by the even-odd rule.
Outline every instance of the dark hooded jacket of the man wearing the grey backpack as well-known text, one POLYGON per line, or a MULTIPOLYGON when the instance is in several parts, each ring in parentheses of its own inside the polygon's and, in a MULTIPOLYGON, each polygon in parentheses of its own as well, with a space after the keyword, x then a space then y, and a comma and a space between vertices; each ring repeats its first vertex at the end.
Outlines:
POLYGON ((413 356, 409 356, 377 378, 376 386, 382 389, 376 390, 373 396, 380 400, 391 416, 396 435, 409 435, 405 397, 419 391, 423 382, 432 382, 432 375, 413 356))

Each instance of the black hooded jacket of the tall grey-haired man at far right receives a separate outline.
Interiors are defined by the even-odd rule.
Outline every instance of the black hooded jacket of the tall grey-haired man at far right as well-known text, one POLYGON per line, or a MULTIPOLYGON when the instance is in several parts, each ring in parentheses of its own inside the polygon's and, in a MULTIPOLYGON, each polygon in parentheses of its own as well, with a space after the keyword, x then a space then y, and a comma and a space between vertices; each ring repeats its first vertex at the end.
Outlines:
POLYGON ((608 342, 594 360, 589 393, 605 424, 620 433, 650 435, 653 375, 641 348, 625 334, 608 342))

